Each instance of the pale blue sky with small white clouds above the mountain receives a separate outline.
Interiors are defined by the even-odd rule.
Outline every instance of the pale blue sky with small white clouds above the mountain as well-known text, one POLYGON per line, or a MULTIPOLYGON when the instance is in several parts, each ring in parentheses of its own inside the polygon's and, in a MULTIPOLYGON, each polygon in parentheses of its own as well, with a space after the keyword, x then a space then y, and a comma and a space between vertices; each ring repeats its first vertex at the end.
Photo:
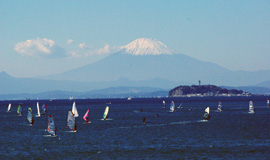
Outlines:
POLYGON ((270 70, 270 1, 0 0, 0 71, 59 73, 137 38, 231 70, 270 70))

